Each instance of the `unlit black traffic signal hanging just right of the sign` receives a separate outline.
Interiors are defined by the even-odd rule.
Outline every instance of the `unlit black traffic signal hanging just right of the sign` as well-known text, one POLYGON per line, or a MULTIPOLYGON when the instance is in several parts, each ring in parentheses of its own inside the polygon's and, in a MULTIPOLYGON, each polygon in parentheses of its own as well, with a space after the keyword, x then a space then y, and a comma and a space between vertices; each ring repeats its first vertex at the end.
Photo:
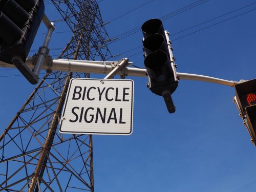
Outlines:
POLYGON ((169 113, 175 112, 171 94, 178 87, 178 76, 168 32, 160 19, 150 19, 142 27, 144 65, 150 90, 164 97, 169 113))

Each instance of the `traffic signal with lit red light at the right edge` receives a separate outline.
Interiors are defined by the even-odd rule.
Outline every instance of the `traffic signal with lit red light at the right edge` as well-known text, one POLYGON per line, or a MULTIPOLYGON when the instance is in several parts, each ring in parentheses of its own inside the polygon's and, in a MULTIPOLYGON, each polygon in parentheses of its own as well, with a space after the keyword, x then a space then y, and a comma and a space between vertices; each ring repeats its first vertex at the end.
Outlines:
POLYGON ((234 101, 237 103, 251 141, 256 146, 256 79, 236 84, 235 88, 234 101))

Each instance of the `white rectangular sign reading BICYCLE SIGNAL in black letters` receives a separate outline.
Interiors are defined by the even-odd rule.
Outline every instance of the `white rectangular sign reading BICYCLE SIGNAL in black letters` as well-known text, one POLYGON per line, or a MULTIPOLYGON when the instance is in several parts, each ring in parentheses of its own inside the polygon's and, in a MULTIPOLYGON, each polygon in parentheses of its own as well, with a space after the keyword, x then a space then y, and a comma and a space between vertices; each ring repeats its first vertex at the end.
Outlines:
POLYGON ((71 134, 131 135, 133 80, 70 81, 59 131, 71 134))

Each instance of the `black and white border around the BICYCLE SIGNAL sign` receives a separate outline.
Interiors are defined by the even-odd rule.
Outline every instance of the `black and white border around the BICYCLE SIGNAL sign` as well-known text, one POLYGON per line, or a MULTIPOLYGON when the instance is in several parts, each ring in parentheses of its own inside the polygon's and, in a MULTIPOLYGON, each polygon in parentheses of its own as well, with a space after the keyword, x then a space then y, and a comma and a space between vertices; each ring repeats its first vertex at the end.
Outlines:
POLYGON ((69 83, 69 89, 66 95, 65 103, 63 105, 62 113, 61 113, 61 118, 60 118, 60 123, 59 123, 59 132, 64 133, 64 134, 93 134, 93 135, 131 135, 133 133, 133 108, 134 108, 134 81, 132 79, 90 79, 90 78, 72 78, 69 83), (74 79, 78 80, 97 80, 97 81, 131 81, 132 82, 132 101, 131 101, 131 127, 130 127, 130 132, 129 133, 100 133, 100 132, 69 132, 69 131, 61 131, 61 125, 63 122, 63 116, 65 115, 65 110, 67 106, 67 100, 69 98, 69 93, 70 93, 70 88, 72 81, 74 79))

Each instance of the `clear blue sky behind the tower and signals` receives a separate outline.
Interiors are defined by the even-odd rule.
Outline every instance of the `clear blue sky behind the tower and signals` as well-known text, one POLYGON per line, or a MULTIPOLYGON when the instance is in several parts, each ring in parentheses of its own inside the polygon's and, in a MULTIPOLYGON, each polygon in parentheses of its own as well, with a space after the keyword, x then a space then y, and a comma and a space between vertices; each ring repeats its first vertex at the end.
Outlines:
MULTIPOLYGON (((99 7, 103 20, 111 21, 105 28, 114 38, 140 27, 148 19, 160 18, 194 2, 103 0, 99 7), (141 5, 144 6, 134 10, 141 5), (130 13, 123 15, 127 12, 130 13)), ((177 71, 227 80, 255 78, 256 4, 253 3, 209 0, 163 20, 173 40, 177 71), (232 13, 219 17, 229 12, 232 13), (215 17, 219 18, 211 20, 215 17), (183 31, 201 23, 204 24, 183 31)), ((50 20, 60 18, 52 4, 46 3, 46 14, 50 20)), ((69 29, 58 22, 56 32, 61 31, 69 29)), ((44 32, 44 27, 38 31, 44 32)), ((65 47, 70 37, 71 33, 53 34, 50 48, 65 47)), ((129 51, 115 60, 129 57, 134 65, 143 68, 143 53, 138 48, 142 47, 141 38, 139 31, 110 44, 113 55, 129 51)), ((36 52, 43 39, 44 35, 37 35, 31 53, 36 52)), ((60 51, 51 50, 51 54, 58 55, 60 51)), ((19 73, 0 69, 2 130, 34 89, 22 76, 3 77, 11 75, 19 73)), ((127 77, 130 78, 135 82, 133 134, 94 136, 95 191, 255 190, 256 147, 250 143, 232 102, 233 88, 180 80, 173 94, 176 113, 169 114, 163 98, 146 88, 146 78, 127 77)))

